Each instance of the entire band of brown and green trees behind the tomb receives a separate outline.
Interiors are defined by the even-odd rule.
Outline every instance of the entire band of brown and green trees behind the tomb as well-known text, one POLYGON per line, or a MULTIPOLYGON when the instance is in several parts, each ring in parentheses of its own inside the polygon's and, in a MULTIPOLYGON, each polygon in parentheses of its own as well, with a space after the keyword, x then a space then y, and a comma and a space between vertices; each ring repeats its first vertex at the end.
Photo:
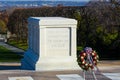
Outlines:
POLYGON ((31 16, 74 18, 78 21, 78 46, 96 49, 101 59, 120 59, 120 6, 117 2, 91 2, 84 7, 15 9, 7 27, 16 34, 16 40, 27 42, 27 19, 31 16))

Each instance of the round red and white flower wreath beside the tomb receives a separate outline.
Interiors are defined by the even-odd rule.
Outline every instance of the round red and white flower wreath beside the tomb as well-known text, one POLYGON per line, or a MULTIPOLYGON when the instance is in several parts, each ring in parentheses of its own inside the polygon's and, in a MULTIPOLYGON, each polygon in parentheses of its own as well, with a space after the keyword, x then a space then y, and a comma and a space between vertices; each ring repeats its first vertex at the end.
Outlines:
POLYGON ((83 51, 81 51, 77 58, 78 65, 86 71, 94 69, 94 67, 97 66, 98 61, 98 54, 90 47, 86 47, 83 51))

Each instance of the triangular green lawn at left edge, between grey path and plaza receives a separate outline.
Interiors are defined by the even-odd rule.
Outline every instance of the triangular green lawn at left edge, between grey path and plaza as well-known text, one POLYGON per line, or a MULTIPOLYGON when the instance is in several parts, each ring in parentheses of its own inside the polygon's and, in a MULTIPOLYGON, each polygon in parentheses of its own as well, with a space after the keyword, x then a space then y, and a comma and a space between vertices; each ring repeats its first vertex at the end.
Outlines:
POLYGON ((22 55, 18 55, 3 46, 0 46, 0 62, 20 62, 22 55))

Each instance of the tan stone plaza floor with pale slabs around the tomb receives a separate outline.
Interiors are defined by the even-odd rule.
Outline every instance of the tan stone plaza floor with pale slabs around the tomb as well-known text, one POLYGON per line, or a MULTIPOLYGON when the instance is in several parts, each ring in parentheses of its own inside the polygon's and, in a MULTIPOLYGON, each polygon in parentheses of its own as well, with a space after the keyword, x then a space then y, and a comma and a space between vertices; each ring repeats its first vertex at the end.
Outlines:
MULTIPOLYGON (((120 61, 100 61, 97 80, 120 80, 120 61)), ((31 71, 21 70, 20 63, 0 63, 0 80, 84 80, 82 70, 31 71)), ((94 80, 90 72, 86 80, 94 80)))

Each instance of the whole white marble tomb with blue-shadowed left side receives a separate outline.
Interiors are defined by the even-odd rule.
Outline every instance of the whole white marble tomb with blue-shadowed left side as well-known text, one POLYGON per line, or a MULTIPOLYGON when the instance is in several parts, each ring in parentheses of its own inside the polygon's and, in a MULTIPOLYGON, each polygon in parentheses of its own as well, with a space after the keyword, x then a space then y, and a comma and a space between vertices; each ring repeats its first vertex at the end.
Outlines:
POLYGON ((22 69, 59 71, 80 69, 76 62, 75 19, 30 17, 29 48, 21 62, 22 69))

